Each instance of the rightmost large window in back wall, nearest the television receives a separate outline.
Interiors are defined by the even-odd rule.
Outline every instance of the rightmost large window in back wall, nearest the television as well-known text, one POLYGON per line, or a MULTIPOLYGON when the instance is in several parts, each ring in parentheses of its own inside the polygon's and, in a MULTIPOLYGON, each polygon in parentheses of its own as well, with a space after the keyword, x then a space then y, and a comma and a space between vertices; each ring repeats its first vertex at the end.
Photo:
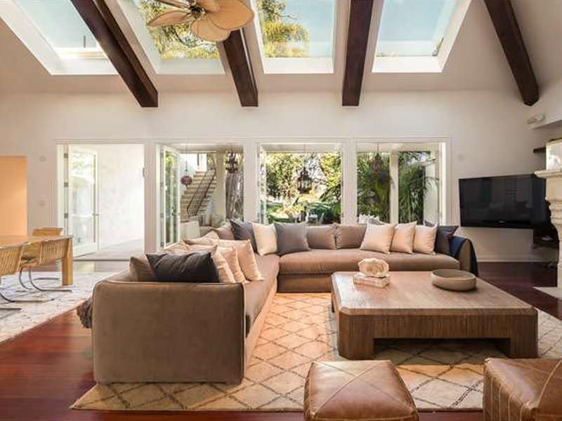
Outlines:
POLYGON ((357 154, 360 221, 442 222, 444 144, 361 143, 357 154))

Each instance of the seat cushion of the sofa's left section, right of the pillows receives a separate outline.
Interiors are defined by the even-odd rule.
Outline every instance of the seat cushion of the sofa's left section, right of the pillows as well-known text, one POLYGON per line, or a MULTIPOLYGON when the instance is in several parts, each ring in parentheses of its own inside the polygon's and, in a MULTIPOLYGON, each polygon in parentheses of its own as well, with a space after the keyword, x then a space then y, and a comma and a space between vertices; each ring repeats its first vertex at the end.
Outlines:
POLYGON ((279 256, 270 254, 256 255, 256 262, 263 276, 263 281, 244 284, 244 304, 246 309, 246 335, 254 324, 257 316, 266 303, 271 288, 275 288, 275 280, 279 273, 279 256))

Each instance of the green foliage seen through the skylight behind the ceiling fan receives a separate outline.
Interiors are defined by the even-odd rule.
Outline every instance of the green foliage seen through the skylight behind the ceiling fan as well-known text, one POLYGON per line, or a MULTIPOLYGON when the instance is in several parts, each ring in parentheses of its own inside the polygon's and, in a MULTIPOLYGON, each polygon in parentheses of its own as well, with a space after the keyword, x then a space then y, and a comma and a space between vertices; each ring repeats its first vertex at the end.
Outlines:
MULTIPOLYGON (((138 8, 145 22, 169 10, 169 8, 154 0, 140 0, 138 8)), ((170 58, 218 58, 216 44, 197 38, 190 32, 189 25, 148 27, 148 30, 160 56, 164 60, 170 58)))

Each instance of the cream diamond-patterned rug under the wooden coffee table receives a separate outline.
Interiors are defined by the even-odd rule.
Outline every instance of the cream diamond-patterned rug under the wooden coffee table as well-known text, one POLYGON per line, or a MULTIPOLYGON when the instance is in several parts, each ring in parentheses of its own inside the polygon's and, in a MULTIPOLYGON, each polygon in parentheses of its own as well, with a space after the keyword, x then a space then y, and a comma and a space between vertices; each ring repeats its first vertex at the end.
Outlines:
MULTIPOLYGON (((562 321, 539 312, 540 354, 562 356, 562 321)), ((486 341, 386 343, 377 359, 398 366, 420 410, 482 408, 483 362, 502 356, 486 341)), ((312 361, 342 359, 329 294, 277 294, 240 385, 96 385, 72 408, 98 410, 302 410, 312 361)))

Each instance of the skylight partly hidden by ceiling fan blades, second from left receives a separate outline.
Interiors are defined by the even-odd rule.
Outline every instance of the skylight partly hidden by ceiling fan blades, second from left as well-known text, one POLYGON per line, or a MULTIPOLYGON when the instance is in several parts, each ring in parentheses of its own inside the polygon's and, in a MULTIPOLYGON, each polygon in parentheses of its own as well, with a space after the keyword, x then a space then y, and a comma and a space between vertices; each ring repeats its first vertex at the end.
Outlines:
POLYGON ((223 74, 215 43, 192 35, 188 25, 148 27, 170 8, 155 0, 118 0, 157 74, 223 74))

